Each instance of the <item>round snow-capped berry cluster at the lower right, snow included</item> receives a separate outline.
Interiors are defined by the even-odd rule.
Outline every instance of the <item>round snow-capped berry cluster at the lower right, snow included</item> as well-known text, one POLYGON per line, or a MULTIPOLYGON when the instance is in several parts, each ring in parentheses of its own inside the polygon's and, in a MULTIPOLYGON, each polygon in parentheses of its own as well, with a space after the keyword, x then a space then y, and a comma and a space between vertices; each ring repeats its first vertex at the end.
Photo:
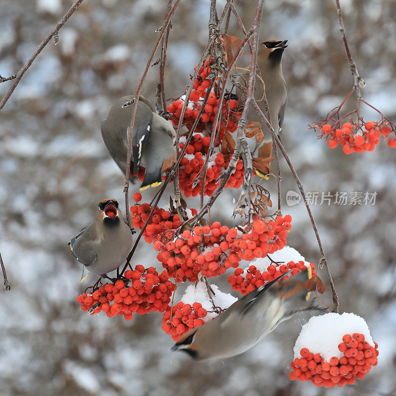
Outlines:
POLYGON ((291 380, 311 381, 316 386, 334 388, 364 378, 377 364, 378 345, 373 342, 364 319, 352 313, 328 313, 311 318, 303 326, 294 351, 291 380), (348 329, 348 333, 340 337, 343 328, 348 329), (352 328, 360 330, 351 333, 352 328), (340 341, 341 344, 336 346, 340 341), (309 347, 302 347, 297 352, 304 343, 309 347))

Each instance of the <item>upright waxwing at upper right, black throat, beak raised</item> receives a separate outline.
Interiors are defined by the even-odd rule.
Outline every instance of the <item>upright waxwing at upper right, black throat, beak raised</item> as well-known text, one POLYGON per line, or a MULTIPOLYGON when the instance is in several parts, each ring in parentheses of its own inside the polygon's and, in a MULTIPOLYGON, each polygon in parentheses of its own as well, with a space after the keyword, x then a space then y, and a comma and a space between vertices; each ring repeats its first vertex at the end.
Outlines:
MULTIPOLYGON (((282 128, 283 117, 285 115, 286 103, 288 100, 288 92, 286 87, 286 81, 283 77, 282 72, 282 55, 283 51, 287 47, 286 43, 288 41, 278 41, 270 40, 266 41, 258 47, 257 51, 257 65, 260 70, 262 79, 265 84, 265 95, 267 97, 269 114, 271 117, 272 127, 275 133, 278 134, 282 128)), ((245 101, 243 91, 246 92, 248 81, 248 73, 242 74, 239 78, 239 83, 241 86, 237 85, 237 96, 239 99, 245 101)), ((264 115, 267 114, 267 109, 264 107, 263 102, 263 85, 261 81, 256 76, 254 98, 257 101, 258 106, 264 115)), ((261 121, 261 118, 257 115, 256 110, 253 108, 249 109, 247 116, 247 121, 261 121)), ((271 132, 264 123, 261 124, 261 129, 264 133, 264 141, 271 141, 271 132)), ((259 157, 258 149, 262 143, 254 142, 254 147, 252 149, 252 157, 259 157)))

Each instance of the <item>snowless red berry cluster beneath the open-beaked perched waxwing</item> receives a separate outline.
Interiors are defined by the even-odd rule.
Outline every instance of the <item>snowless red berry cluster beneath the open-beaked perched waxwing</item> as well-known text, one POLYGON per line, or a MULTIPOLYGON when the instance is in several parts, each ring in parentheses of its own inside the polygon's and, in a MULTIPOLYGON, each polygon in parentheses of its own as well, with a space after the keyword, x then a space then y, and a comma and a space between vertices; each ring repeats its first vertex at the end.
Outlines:
POLYGON ((94 293, 78 296, 81 309, 91 314, 103 311, 108 317, 124 315, 130 320, 134 312, 143 315, 168 308, 175 285, 169 281, 166 270, 158 275, 154 267, 145 269, 137 265, 135 270, 125 271, 124 277, 125 281, 119 279, 115 284, 100 286, 94 293))

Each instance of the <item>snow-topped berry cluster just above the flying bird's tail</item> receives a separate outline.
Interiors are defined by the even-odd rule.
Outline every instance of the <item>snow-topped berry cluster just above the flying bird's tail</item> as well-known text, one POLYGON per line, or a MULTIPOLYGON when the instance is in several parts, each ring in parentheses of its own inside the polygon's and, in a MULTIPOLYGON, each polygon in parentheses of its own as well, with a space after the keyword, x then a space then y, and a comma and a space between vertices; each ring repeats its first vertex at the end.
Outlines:
MULTIPOLYGON (((289 217, 289 215, 286 215, 285 219, 288 218, 289 220, 289 217)), ((237 268, 234 274, 228 277, 228 282, 233 290, 237 290, 245 296, 290 270, 290 276, 293 276, 306 267, 310 268, 312 276, 316 275, 313 263, 305 261, 304 257, 293 247, 285 246, 274 252, 271 258, 268 256, 257 258, 250 262, 250 265, 245 269, 237 268)), ((285 278, 288 278, 288 276, 285 276, 285 278)))

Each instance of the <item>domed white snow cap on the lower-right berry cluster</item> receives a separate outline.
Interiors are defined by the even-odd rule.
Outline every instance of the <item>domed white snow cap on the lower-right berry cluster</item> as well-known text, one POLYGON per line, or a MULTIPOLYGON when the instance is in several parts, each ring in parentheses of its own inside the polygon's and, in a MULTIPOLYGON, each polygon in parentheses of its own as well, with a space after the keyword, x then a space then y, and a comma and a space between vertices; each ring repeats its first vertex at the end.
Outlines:
POLYGON ((364 341, 374 347, 367 323, 360 316, 348 312, 313 316, 302 326, 293 349, 294 357, 300 358, 300 350, 308 348, 313 354, 320 353, 327 362, 333 356, 340 358, 344 353, 338 349, 339 344, 346 334, 353 333, 363 334, 364 341))

